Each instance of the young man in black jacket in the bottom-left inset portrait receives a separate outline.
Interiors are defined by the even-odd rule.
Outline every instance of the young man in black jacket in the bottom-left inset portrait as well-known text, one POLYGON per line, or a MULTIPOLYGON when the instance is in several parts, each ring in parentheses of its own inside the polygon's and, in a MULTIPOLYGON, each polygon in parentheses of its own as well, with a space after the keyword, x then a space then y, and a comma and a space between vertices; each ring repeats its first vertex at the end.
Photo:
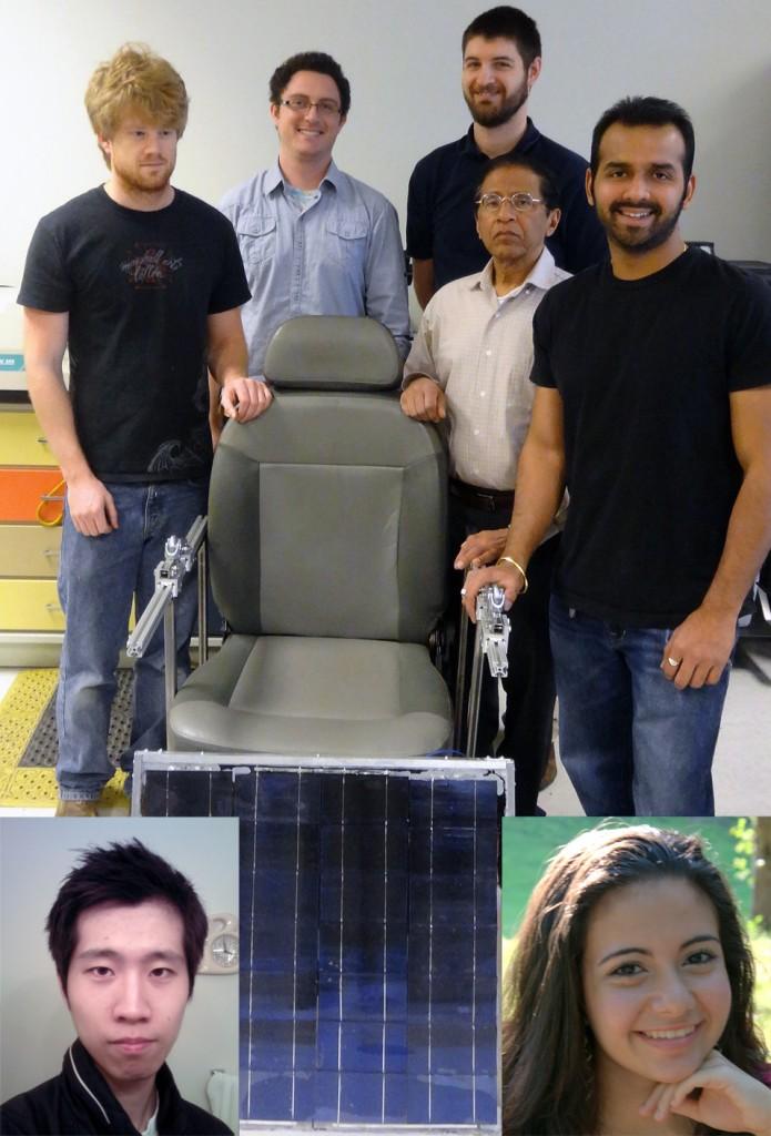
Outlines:
POLYGON ((82 853, 45 924, 77 1039, 57 1077, 2 1105, 3 1136, 231 1131, 166 1064, 207 927, 190 880, 140 841, 82 853))

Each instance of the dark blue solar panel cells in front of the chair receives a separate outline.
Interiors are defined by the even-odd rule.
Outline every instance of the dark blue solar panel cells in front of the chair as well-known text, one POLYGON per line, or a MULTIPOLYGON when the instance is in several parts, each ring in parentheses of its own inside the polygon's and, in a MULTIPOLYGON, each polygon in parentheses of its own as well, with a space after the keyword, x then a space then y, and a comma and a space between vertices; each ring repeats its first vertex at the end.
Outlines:
POLYGON ((496 1122, 494 778, 148 772, 173 810, 241 818, 244 1120, 496 1122))

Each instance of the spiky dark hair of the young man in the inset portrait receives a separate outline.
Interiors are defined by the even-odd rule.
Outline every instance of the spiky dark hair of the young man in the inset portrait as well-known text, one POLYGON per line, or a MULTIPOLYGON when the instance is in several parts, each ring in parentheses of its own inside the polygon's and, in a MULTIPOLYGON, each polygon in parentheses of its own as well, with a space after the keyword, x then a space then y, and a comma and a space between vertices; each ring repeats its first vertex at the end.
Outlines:
POLYGON ((48 949, 65 994, 69 963, 77 946, 81 912, 100 903, 124 903, 133 908, 145 900, 161 900, 179 912, 192 996, 209 928, 206 912, 187 877, 137 840, 85 849, 77 867, 59 888, 45 920, 45 930, 48 949))

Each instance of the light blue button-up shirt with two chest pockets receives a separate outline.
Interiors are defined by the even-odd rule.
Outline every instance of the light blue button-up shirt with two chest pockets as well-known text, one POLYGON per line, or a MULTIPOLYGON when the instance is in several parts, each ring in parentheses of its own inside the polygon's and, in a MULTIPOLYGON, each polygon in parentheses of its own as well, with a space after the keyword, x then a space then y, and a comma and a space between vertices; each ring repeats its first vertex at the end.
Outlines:
POLYGON ((396 210, 334 161, 319 189, 319 200, 300 212, 276 161, 220 202, 252 291, 242 309, 250 375, 262 374, 273 333, 293 316, 371 316, 385 324, 402 356, 409 350, 396 210))

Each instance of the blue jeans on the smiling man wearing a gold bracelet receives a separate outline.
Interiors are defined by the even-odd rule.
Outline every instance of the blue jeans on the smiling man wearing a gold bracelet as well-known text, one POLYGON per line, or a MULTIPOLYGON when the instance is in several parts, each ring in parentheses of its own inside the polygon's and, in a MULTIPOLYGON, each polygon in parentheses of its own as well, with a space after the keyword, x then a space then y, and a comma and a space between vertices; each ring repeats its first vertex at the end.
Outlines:
POLYGON ((730 665, 679 691, 660 665, 671 629, 550 608, 560 755, 589 817, 714 816, 712 758, 730 665))

